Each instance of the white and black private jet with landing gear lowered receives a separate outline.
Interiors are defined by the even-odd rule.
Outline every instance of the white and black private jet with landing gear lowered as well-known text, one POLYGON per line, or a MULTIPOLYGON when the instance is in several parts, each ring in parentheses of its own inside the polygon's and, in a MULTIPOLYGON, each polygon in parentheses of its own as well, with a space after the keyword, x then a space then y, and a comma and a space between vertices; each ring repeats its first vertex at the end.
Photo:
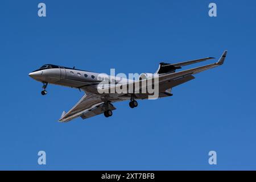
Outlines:
MULTIPOLYGON (((137 107, 136 100, 148 99, 150 93, 134 92, 134 85, 139 84, 137 90, 142 89, 143 80, 152 79, 154 75, 158 77, 158 98, 170 97, 172 88, 177 85, 184 84, 187 81, 193 80, 196 73, 205 71, 210 68, 218 67, 224 63, 227 51, 224 51, 220 59, 216 63, 204 65, 201 67, 191 68, 184 71, 176 72, 186 65, 200 63, 202 61, 214 59, 214 57, 205 57, 203 59, 184 61, 180 63, 160 63, 155 73, 142 73, 138 80, 130 80, 127 78, 117 76, 102 76, 101 73, 94 73, 83 71, 80 69, 62 67, 59 65, 45 64, 34 72, 29 73, 29 76, 36 81, 43 83, 42 95, 46 95, 47 85, 55 84, 76 88, 85 92, 75 106, 67 113, 63 111, 59 119, 60 122, 68 122, 77 117, 82 119, 90 118, 95 115, 104 113, 105 117, 110 117, 113 114, 113 103, 118 101, 130 100, 129 106, 131 108, 137 107), (102 82, 104 86, 102 86, 102 82), (109 90, 113 88, 123 88, 130 86, 133 88, 132 92, 117 93, 117 92, 99 92, 101 90, 109 90)), ((152 85, 155 83, 152 82, 152 85)))

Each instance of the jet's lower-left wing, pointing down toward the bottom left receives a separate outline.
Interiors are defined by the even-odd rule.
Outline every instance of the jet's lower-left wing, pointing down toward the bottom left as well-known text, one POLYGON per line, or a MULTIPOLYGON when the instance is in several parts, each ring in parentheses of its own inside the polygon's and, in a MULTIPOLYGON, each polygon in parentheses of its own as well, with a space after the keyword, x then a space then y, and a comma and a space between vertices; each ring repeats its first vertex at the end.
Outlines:
MULTIPOLYGON (((109 109, 114 110, 115 107, 112 104, 109 104, 109 109)), ((101 100, 101 97, 96 94, 85 94, 79 102, 67 113, 63 111, 60 122, 68 122, 71 119, 81 117, 82 119, 93 117, 104 113, 105 104, 101 100)))

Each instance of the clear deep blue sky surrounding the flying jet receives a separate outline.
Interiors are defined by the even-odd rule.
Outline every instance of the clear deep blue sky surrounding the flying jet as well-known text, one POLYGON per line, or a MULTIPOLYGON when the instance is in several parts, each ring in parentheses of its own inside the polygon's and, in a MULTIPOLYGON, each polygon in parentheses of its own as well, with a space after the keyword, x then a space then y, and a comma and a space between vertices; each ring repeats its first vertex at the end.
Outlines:
POLYGON ((0 169, 256 169, 255 13, 252 0, 0 1, 0 169), (208 16, 210 2, 217 18, 208 16), (47 63, 155 72, 160 61, 224 49, 222 67, 195 75, 173 97, 136 109, 119 102, 111 118, 57 122, 82 93, 49 85, 41 96, 42 84, 28 76, 47 63), (46 166, 37 163, 40 150, 46 166), (210 150, 217 166, 208 164, 210 150))

